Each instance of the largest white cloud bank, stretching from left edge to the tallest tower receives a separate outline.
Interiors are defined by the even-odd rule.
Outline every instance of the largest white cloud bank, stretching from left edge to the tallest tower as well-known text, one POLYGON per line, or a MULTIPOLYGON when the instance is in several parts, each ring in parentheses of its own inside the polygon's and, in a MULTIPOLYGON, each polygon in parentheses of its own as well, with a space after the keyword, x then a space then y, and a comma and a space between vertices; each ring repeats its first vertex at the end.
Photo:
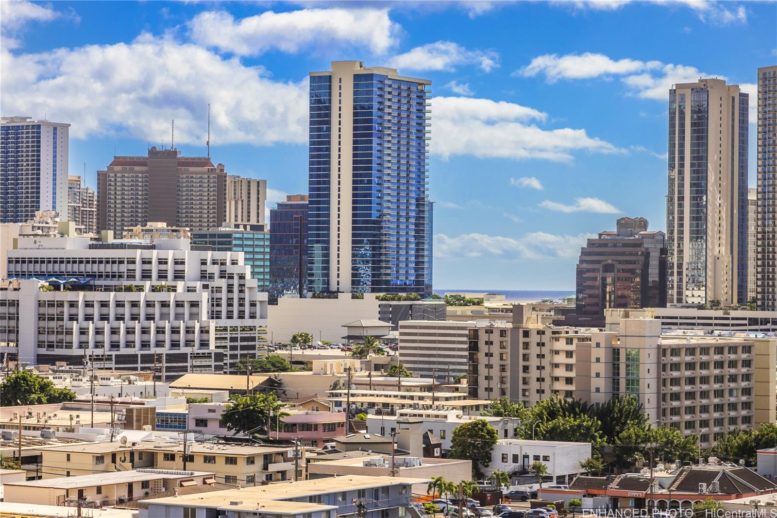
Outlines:
POLYGON ((193 44, 143 34, 129 44, 40 54, 2 50, 0 61, 0 110, 46 113, 71 123, 75 138, 119 133, 159 142, 169 137, 174 118, 176 144, 204 145, 211 103, 214 145, 308 139, 307 79, 273 81, 262 68, 193 44))

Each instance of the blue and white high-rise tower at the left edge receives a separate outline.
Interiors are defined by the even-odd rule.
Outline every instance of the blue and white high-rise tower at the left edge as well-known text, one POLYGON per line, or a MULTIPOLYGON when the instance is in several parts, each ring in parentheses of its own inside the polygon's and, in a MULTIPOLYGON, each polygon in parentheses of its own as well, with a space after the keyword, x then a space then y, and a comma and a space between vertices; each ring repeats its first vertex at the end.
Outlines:
POLYGON ((0 118, 0 223, 23 223, 37 211, 68 215, 70 124, 0 118))

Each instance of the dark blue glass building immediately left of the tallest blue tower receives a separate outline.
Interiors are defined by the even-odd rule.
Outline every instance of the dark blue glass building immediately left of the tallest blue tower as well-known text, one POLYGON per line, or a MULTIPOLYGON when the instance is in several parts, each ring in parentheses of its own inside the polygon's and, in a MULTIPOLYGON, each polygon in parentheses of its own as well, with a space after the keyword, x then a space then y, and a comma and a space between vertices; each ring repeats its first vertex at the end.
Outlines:
POLYGON ((270 208, 270 299, 307 293, 308 196, 293 194, 270 208))

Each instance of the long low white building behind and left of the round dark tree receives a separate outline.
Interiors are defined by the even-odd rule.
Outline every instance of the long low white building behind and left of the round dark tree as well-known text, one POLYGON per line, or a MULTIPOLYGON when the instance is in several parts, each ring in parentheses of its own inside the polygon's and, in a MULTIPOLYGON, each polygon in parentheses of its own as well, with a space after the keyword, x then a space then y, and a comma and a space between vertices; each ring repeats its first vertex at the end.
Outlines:
MULTIPOLYGON (((442 404, 444 406, 444 403, 442 404)), ((487 421, 497 430, 500 439, 509 439, 515 436, 517 428, 521 425, 518 418, 485 417, 478 415, 464 415, 458 410, 398 410, 396 415, 382 415, 380 413, 367 415, 367 431, 377 433, 380 436, 389 436, 391 432, 399 429, 397 422, 405 419, 422 420, 423 430, 430 432, 442 441, 443 453, 451 449, 451 437, 453 429, 465 422, 476 419, 487 421)), ((531 464, 531 463, 530 463, 531 464)))

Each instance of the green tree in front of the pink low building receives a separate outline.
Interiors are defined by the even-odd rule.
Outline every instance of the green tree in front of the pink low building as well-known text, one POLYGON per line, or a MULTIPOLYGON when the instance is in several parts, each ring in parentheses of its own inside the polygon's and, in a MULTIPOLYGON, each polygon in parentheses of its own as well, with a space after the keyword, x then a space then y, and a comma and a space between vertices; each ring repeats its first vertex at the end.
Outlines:
POLYGON ((284 418, 288 414, 282 411, 285 404, 272 394, 250 394, 242 396, 232 394, 229 404, 221 413, 221 424, 233 435, 269 436, 270 430, 280 425, 276 416, 284 418), (270 418, 272 412, 272 418, 270 418), (267 429, 267 425, 270 429, 267 429))

